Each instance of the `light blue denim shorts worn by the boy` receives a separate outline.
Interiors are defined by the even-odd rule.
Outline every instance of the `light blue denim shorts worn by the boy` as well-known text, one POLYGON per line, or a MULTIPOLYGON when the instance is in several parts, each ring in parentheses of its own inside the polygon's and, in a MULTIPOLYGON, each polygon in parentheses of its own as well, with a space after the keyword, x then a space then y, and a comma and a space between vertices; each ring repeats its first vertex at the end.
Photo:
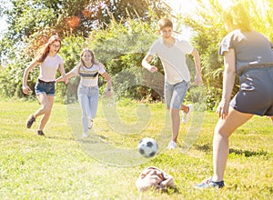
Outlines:
POLYGON ((165 104, 167 109, 174 108, 179 110, 187 93, 189 83, 179 82, 175 85, 169 85, 165 82, 165 104))

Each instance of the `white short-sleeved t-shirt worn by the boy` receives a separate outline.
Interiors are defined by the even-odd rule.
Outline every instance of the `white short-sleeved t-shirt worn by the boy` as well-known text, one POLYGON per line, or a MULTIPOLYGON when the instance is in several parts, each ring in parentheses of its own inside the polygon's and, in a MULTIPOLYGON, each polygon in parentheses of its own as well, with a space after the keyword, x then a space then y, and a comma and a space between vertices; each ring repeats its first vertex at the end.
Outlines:
POLYGON ((186 64, 186 54, 191 54, 193 46, 186 40, 178 40, 171 47, 164 45, 163 38, 158 38, 147 52, 147 55, 158 55, 165 72, 167 84, 175 85, 183 80, 189 82, 190 74, 186 64))

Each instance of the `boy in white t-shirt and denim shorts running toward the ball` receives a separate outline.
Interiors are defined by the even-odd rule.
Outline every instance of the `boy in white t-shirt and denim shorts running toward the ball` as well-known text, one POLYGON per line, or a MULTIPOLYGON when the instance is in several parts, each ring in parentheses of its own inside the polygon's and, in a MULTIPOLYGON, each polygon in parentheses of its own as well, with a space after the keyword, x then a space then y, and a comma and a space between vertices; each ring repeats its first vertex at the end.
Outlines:
POLYGON ((157 72, 157 66, 150 65, 149 62, 154 55, 158 55, 165 72, 165 100, 167 109, 170 110, 172 122, 172 139, 167 145, 167 149, 177 148, 177 136, 180 126, 179 111, 182 110, 184 118, 182 122, 186 123, 192 105, 182 105, 190 81, 190 74, 186 64, 186 54, 193 55, 197 75, 195 81, 197 84, 202 82, 200 57, 192 45, 185 40, 178 40, 172 36, 173 23, 167 18, 158 21, 158 32, 160 37, 151 45, 147 55, 142 60, 142 65, 151 73, 157 72))

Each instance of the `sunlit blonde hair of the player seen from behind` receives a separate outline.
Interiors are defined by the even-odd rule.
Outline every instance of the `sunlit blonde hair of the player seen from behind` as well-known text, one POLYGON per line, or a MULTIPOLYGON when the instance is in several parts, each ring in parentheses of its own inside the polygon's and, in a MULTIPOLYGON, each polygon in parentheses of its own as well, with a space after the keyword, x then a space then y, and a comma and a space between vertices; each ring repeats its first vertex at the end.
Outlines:
POLYGON ((231 5, 224 11, 224 20, 233 30, 251 31, 248 12, 240 3, 231 5))

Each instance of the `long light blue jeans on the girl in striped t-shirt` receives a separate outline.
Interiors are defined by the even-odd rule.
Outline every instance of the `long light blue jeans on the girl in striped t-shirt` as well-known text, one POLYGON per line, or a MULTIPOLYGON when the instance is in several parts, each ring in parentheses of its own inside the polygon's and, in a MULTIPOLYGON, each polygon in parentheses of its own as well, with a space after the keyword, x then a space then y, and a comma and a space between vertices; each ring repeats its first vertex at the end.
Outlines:
POLYGON ((89 119, 96 117, 96 110, 98 105, 98 86, 83 86, 79 85, 77 88, 77 96, 82 109, 82 125, 84 132, 88 131, 89 119))

